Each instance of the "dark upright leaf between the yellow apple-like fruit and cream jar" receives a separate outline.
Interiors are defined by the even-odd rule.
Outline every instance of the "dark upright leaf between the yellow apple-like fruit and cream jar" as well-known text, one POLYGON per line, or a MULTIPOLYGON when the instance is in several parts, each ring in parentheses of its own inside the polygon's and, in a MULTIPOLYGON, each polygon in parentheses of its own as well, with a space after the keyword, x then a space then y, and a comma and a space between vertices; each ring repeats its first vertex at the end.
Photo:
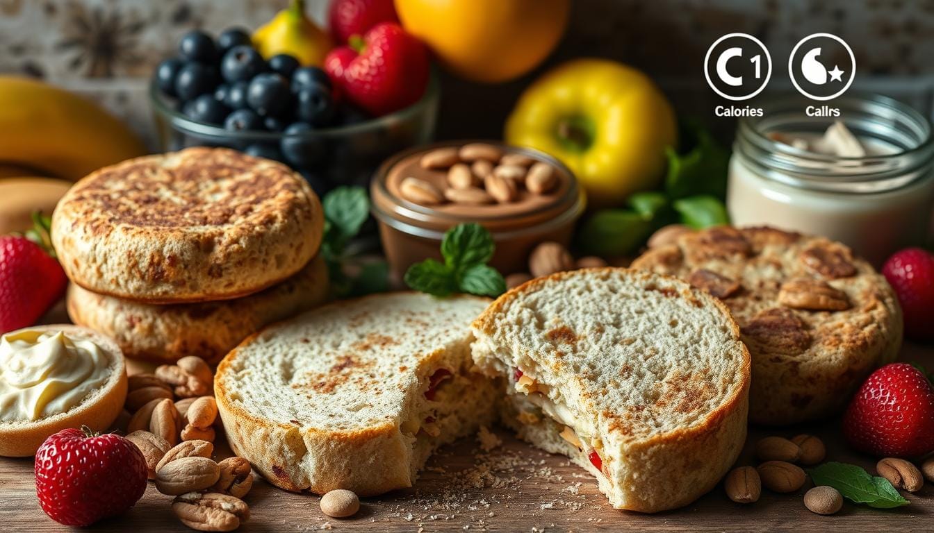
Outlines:
POLYGON ((681 138, 685 151, 678 153, 672 147, 665 151, 668 160, 665 191, 674 199, 698 194, 724 198, 729 151, 697 124, 683 124, 681 138))

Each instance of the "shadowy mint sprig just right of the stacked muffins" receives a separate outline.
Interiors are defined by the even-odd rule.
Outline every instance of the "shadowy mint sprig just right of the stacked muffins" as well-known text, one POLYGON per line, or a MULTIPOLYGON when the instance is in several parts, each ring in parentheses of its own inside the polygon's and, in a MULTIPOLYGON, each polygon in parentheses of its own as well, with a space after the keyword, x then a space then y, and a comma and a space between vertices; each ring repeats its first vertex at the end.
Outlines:
POLYGON ((331 286, 338 298, 361 296, 389 289, 386 261, 360 263, 347 253, 350 240, 360 233, 370 213, 370 200, 361 187, 338 187, 321 199, 324 238, 321 254, 328 263, 331 286), (356 271, 349 275, 347 272, 356 271))

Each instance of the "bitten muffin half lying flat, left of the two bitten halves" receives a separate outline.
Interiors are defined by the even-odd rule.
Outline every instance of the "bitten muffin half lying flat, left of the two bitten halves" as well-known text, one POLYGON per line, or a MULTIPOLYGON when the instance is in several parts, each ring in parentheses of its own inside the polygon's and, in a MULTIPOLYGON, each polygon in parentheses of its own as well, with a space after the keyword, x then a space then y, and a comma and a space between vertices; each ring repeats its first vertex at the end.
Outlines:
POLYGON ((231 448, 286 490, 412 486, 434 449, 493 418, 498 394, 470 355, 487 304, 379 294, 253 335, 214 380, 231 448))

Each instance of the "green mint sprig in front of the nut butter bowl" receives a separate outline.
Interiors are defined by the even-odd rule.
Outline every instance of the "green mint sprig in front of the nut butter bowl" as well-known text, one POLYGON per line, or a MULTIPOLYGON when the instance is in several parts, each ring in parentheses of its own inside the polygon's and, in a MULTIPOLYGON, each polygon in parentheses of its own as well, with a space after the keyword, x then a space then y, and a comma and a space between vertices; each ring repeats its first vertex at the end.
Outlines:
POLYGON ((446 231, 441 242, 445 262, 425 259, 412 265, 405 272, 405 285, 441 298, 456 292, 499 296, 506 291, 506 281, 487 264, 495 248, 483 226, 459 224, 446 231))

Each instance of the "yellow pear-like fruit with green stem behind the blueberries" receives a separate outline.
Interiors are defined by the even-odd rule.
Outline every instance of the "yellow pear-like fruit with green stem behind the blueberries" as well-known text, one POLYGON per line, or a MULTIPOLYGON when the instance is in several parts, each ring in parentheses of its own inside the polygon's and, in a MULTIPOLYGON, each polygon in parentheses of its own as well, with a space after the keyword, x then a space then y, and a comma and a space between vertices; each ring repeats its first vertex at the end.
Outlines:
POLYGON ((265 59, 287 53, 304 66, 322 66, 333 43, 331 37, 304 14, 304 0, 292 0, 288 8, 253 32, 253 46, 265 59))

